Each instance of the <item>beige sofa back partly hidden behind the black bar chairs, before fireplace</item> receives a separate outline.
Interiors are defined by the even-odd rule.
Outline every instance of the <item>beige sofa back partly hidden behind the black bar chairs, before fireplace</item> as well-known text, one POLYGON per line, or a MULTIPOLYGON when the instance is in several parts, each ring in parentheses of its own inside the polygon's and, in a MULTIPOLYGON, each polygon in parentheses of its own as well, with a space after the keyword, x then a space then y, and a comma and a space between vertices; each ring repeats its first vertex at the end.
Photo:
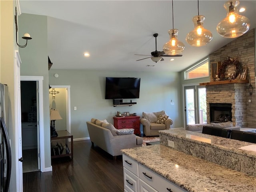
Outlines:
POLYGON ((229 122, 223 122, 223 123, 210 123, 210 124, 193 124, 193 125, 187 125, 186 130, 188 131, 195 131, 202 133, 203 126, 210 126, 210 127, 217 127, 217 128, 224 128, 224 129, 230 129, 230 130, 238 130, 240 131, 240 126, 234 126, 231 121, 229 122))

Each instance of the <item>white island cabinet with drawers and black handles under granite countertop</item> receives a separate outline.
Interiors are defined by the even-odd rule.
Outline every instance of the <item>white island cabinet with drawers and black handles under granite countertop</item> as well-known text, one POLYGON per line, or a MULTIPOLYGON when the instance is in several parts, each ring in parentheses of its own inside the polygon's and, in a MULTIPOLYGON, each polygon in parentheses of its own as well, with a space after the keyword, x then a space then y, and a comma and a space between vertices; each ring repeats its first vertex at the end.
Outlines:
POLYGON ((123 154, 124 191, 127 192, 186 192, 176 184, 156 174, 123 154))

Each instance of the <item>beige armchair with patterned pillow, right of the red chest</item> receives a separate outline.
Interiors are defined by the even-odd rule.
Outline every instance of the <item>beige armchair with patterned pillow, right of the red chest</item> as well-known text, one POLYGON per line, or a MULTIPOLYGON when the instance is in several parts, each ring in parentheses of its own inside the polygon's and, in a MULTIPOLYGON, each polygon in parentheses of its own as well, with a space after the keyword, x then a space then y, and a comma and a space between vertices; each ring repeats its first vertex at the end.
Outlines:
POLYGON ((161 116, 168 116, 166 112, 159 111, 159 112, 152 112, 146 113, 142 112, 142 118, 140 119, 140 123, 143 126, 143 134, 145 136, 158 136, 159 130, 166 130, 170 129, 172 125, 172 120, 169 118, 164 119, 162 122, 159 121, 161 116))

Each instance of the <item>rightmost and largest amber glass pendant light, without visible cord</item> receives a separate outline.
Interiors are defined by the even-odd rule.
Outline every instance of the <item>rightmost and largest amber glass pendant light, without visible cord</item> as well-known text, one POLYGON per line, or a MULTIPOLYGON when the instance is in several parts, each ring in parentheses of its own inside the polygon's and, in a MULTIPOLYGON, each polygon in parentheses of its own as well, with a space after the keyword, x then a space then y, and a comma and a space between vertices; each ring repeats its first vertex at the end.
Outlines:
POLYGON ((217 32, 225 38, 242 36, 250 28, 250 20, 238 14, 239 1, 227 1, 224 8, 227 16, 217 26, 217 32))

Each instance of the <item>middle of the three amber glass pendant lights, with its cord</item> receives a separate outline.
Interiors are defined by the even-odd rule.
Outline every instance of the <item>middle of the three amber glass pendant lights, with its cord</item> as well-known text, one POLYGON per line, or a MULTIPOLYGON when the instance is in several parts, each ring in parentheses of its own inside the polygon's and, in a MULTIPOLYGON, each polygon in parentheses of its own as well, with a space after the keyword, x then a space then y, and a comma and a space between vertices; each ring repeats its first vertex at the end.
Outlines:
POLYGON ((189 32, 186 36, 186 42, 194 47, 200 47, 208 44, 212 40, 212 33, 205 29, 204 24, 205 17, 199 15, 199 0, 198 0, 198 16, 194 16, 192 21, 194 22, 194 30, 189 32))

